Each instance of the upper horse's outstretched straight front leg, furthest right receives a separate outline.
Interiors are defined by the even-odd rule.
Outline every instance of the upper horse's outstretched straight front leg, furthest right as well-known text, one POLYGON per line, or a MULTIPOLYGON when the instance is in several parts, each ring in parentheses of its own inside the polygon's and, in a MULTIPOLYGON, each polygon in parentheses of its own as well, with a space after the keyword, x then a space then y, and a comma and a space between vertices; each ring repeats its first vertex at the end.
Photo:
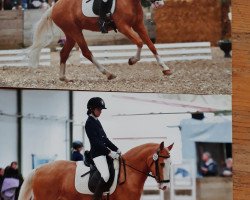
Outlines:
POLYGON ((150 40, 143 22, 141 21, 140 23, 136 24, 133 27, 133 29, 139 34, 142 41, 148 46, 148 48, 154 54, 157 63, 163 68, 162 73, 164 75, 171 75, 172 72, 170 71, 169 67, 163 62, 160 55, 157 53, 157 50, 156 50, 153 42, 150 40))

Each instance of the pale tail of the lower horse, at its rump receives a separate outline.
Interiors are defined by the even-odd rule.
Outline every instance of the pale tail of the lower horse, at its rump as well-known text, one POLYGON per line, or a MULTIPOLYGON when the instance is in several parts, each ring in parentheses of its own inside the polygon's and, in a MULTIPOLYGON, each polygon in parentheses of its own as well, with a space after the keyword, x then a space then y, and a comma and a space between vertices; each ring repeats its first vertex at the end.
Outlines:
POLYGON ((18 200, 30 200, 33 195, 33 190, 32 190, 32 185, 33 185, 33 177, 35 174, 35 170, 33 170, 28 177, 25 178, 20 193, 18 200))

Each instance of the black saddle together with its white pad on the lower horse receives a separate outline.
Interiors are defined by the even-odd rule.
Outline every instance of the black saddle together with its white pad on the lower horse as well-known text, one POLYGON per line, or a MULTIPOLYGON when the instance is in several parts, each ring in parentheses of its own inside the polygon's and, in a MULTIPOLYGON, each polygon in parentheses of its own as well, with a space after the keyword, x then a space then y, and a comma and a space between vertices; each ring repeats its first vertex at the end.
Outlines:
MULTIPOLYGON (((107 184, 104 186, 104 194, 112 194, 115 191, 117 185, 119 162, 117 160, 113 161, 113 159, 108 156, 107 162, 109 166, 110 178, 107 184)), ((76 190, 82 194, 93 194, 100 179, 101 174, 95 167, 89 151, 85 151, 84 161, 77 162, 75 175, 76 190)))

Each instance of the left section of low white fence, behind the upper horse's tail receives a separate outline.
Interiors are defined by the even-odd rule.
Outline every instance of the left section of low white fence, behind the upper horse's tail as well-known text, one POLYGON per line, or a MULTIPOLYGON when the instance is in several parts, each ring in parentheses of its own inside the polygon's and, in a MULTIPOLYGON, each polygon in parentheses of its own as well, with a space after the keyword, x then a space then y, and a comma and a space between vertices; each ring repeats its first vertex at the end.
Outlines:
MULTIPOLYGON (((39 65, 50 66, 50 49, 42 49, 39 65)), ((0 50, 0 67, 27 67, 28 59, 25 49, 0 50)))

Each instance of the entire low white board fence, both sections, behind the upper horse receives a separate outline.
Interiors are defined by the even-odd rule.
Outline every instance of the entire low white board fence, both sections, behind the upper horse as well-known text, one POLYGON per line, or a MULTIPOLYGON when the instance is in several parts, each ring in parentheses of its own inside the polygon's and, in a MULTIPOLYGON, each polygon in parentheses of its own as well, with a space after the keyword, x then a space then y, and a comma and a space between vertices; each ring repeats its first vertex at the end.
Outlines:
MULTIPOLYGON (((156 44, 163 61, 207 60, 212 59, 210 42, 156 44)), ((93 55, 102 64, 127 63, 135 55, 136 45, 90 46, 93 55)), ((50 49, 42 49, 39 65, 50 66, 50 49)), ((80 54, 80 62, 91 64, 80 54)), ((146 45, 141 52, 141 62, 155 61, 155 57, 146 45)), ((79 62, 79 61, 78 61, 79 62)), ((0 50, 0 67, 26 67, 28 60, 25 50, 0 50)))

